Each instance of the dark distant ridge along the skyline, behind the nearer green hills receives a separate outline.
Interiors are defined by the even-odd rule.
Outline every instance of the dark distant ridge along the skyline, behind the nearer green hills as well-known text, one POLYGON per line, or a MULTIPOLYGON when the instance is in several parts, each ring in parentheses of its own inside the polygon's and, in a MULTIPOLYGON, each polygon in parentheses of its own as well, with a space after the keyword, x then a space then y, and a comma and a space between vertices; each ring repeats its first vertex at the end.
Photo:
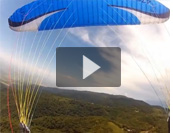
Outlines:
POLYGON ((76 91, 76 90, 65 90, 58 88, 45 88, 42 87, 43 92, 49 92, 62 97, 68 97, 80 101, 90 102, 94 104, 101 104, 104 106, 137 106, 144 107, 146 110, 150 110, 151 106, 143 101, 128 98, 122 95, 109 95, 105 93, 95 93, 89 91, 76 91))

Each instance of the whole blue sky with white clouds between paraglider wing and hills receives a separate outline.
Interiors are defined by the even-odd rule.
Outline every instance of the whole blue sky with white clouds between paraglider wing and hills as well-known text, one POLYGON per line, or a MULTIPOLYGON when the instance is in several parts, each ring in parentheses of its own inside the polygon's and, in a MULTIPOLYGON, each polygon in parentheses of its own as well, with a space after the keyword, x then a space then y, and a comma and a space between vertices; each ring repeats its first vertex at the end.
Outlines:
MULTIPOLYGON (((121 87, 62 88, 104 92, 161 104, 169 100, 170 89, 170 21, 139 26, 107 26, 60 29, 44 32, 14 32, 8 18, 19 7, 32 0, 0 1, 1 81, 7 80, 9 64, 12 77, 33 83, 56 86, 56 48, 111 47, 121 48, 121 87), (166 89, 165 89, 166 88, 166 89)), ((170 1, 160 1, 168 8, 170 1)))

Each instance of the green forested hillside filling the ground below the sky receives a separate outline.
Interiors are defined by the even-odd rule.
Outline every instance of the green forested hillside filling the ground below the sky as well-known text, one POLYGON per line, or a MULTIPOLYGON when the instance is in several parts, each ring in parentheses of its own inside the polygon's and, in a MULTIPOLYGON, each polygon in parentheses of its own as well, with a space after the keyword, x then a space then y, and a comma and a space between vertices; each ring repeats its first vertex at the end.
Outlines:
MULTIPOLYGON (((6 87, 1 86, 1 132, 10 132, 6 87)), ((33 133, 167 133, 167 116, 161 107, 127 98, 92 92, 43 88, 31 124, 33 133)), ((19 122, 10 94, 12 123, 19 122)))

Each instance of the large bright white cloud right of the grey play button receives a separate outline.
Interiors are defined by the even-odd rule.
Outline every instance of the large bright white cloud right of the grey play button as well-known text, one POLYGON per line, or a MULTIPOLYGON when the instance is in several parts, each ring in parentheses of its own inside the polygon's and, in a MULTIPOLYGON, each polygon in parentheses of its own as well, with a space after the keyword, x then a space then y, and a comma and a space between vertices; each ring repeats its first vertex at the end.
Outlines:
POLYGON ((78 37, 84 31, 87 37, 82 36, 81 39, 94 46, 122 48, 122 86, 109 89, 89 88, 89 90, 155 101, 159 98, 163 100, 164 94, 169 99, 164 89, 165 85, 169 88, 170 42, 164 24, 90 27, 80 28, 80 33, 78 31, 79 28, 71 30, 78 37))

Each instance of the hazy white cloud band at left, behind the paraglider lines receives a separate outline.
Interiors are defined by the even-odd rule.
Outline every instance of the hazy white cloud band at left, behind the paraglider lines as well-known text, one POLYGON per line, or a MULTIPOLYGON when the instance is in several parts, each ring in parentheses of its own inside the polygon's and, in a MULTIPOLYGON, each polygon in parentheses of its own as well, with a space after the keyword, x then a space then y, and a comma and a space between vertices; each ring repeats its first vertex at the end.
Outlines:
POLYGON ((26 59, 21 59, 15 54, 10 55, 3 49, 0 49, 0 64, 1 64, 1 81, 8 83, 9 70, 11 72, 12 81, 29 82, 29 78, 32 80, 31 84, 41 84, 48 86, 55 86, 56 75, 55 72, 49 70, 48 65, 36 65, 34 62, 26 59), (53 83, 53 85, 52 85, 53 83))

